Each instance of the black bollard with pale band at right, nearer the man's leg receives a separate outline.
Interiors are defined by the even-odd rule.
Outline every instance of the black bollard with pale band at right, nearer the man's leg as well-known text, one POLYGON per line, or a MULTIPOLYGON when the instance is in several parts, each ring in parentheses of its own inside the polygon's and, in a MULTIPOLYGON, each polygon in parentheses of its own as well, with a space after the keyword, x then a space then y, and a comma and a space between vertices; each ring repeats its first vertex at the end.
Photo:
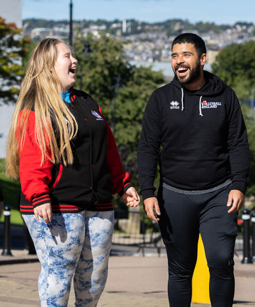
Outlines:
POLYGON ((242 210, 243 219, 243 260, 242 264, 252 264, 250 258, 250 210, 242 210))

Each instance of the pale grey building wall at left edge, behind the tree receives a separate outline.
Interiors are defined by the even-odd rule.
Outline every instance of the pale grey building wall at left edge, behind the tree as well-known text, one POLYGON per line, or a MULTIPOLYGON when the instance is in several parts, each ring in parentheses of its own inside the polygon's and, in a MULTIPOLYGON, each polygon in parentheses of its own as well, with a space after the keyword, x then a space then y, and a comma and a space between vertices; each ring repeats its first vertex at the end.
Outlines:
MULTIPOLYGON (((22 28, 21 3, 21 0, 1 1, 0 16, 5 18, 6 23, 15 23, 18 28, 22 28)), ((2 86, 1 79, 0 86, 2 86)), ((13 111, 14 104, 3 105, 0 101, 0 158, 6 156, 6 139, 13 111)))

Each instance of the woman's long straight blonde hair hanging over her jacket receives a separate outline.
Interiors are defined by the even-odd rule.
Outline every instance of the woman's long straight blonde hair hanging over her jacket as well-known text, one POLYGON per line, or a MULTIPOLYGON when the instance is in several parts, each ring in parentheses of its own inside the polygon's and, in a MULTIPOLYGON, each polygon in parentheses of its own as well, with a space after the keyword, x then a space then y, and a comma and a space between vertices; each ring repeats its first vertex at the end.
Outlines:
POLYGON ((78 125, 62 100, 61 84, 54 70, 59 43, 65 42, 46 38, 38 43, 21 82, 7 141, 6 174, 14 179, 19 177, 19 152, 24 145, 31 110, 35 112, 35 136, 41 150, 41 165, 46 159, 53 164, 73 162, 70 140, 77 134, 78 125))

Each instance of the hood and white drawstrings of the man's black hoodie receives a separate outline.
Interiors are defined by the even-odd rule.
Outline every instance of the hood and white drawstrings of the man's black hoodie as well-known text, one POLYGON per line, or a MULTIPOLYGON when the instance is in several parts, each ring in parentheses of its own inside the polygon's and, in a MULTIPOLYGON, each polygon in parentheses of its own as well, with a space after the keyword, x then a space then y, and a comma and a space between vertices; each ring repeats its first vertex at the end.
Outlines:
POLYGON ((195 95, 198 96, 199 98, 199 115, 202 115, 202 110, 201 110, 201 101, 203 96, 207 97, 214 97, 214 96, 219 96, 221 95, 224 90, 227 87, 227 84, 222 81, 219 77, 215 76, 214 74, 209 73, 208 71, 203 71, 203 76, 206 79, 205 85, 201 87, 201 89, 196 90, 196 91, 190 91, 186 89, 174 76, 171 84, 176 86, 181 92, 182 92, 182 111, 184 111, 184 93, 185 95, 195 95))

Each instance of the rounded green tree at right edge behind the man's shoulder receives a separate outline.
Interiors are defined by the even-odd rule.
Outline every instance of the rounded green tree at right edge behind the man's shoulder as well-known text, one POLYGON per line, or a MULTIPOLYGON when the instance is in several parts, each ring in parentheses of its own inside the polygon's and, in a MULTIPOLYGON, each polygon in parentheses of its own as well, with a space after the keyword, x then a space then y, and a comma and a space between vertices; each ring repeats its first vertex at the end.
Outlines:
POLYGON ((230 85, 239 99, 249 99, 255 84, 255 41, 223 48, 212 72, 230 85))

